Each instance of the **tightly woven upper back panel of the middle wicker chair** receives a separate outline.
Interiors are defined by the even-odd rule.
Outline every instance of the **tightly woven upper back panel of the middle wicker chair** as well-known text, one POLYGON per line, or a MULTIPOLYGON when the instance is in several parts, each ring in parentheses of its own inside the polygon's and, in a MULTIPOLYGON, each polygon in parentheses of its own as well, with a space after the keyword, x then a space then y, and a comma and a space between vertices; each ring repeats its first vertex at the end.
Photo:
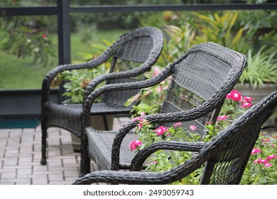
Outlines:
POLYGON ((231 70, 232 65, 226 60, 206 52, 192 52, 178 63, 173 86, 185 87, 207 101, 222 86, 231 70))

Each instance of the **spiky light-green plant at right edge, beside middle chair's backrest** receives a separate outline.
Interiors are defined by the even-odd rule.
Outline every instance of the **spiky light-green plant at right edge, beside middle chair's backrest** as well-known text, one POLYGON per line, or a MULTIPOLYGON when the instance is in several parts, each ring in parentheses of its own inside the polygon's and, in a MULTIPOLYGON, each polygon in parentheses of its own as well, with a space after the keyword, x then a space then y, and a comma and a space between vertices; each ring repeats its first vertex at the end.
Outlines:
POLYGON ((268 53, 266 46, 262 47, 258 53, 252 54, 248 51, 247 67, 242 72, 239 82, 249 82, 254 89, 262 87, 264 83, 277 83, 277 59, 276 52, 268 53))

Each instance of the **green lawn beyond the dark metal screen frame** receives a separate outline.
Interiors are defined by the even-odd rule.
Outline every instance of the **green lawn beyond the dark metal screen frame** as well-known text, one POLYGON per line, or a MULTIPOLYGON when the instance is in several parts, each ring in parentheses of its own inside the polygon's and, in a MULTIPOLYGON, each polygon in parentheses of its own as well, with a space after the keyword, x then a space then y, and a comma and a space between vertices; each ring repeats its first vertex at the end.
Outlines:
MULTIPOLYGON (((109 41, 116 40, 121 34, 127 31, 97 31, 92 35, 91 41, 102 43, 102 38, 109 41)), ((41 82, 45 74, 58 65, 58 37, 53 38, 55 45, 55 55, 53 66, 43 67, 33 63, 32 58, 17 58, 16 55, 7 54, 0 49, 0 90, 26 90, 40 89, 41 82)), ((71 59, 72 63, 85 60, 84 54, 95 53, 89 42, 81 41, 81 33, 72 33, 71 35, 71 59)))

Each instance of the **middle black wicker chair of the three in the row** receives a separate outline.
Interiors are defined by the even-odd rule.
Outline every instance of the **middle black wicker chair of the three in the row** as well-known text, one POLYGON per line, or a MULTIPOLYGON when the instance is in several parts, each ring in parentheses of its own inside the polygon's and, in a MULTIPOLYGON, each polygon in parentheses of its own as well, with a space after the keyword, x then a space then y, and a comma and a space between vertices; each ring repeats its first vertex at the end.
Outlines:
MULTIPOLYGON (((87 97, 84 114, 89 115, 89 109, 99 95, 112 90, 149 87, 171 76, 161 114, 148 115, 146 118, 149 122, 163 126, 171 125, 172 122, 182 122, 184 127, 195 125, 198 133, 203 134, 203 124, 215 122, 225 96, 239 80, 244 65, 245 57, 241 53, 215 43, 202 43, 188 50, 188 53, 152 79, 107 85, 95 90, 87 97)), ((99 170, 130 168, 134 154, 127 146, 136 137, 131 131, 136 127, 136 122, 124 125, 118 134, 115 131, 97 131, 86 126, 81 146, 82 172, 90 171, 89 157, 97 163, 99 170)))

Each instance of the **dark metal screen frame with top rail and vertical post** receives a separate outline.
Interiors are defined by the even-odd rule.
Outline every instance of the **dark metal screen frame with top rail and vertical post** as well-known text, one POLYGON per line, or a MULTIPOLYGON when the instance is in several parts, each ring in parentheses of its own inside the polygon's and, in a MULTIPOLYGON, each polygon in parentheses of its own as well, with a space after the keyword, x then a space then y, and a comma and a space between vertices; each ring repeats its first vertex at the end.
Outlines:
MULTIPOLYGON (((70 7, 70 0, 57 0, 57 6, 38 7, 1 7, 1 16, 58 16, 58 57, 59 65, 68 64, 70 58, 70 14, 85 12, 122 12, 122 11, 223 11, 223 10, 266 10, 277 9, 272 4, 197 4, 197 5, 151 5, 151 6, 78 6, 70 7)), ((11 91, 9 91, 11 92, 11 91)), ((18 92, 13 90, 13 92, 18 92)), ((27 92, 32 92, 28 90, 27 92)), ((7 91, 0 91, 0 96, 7 91)), ((60 95, 63 89, 60 89, 60 95)), ((40 97, 40 96, 38 96, 40 97)), ((1 99, 1 97, 0 97, 1 99)), ((0 101, 1 104, 1 101, 0 101)), ((13 104, 11 104, 13 106, 13 104)), ((40 107, 40 105, 38 105, 40 107)), ((12 107, 11 107, 12 109, 12 107)), ((40 110, 38 110, 40 112, 40 110)), ((37 115, 39 116, 39 114, 37 115)), ((0 112, 0 117, 2 117, 0 112)))

